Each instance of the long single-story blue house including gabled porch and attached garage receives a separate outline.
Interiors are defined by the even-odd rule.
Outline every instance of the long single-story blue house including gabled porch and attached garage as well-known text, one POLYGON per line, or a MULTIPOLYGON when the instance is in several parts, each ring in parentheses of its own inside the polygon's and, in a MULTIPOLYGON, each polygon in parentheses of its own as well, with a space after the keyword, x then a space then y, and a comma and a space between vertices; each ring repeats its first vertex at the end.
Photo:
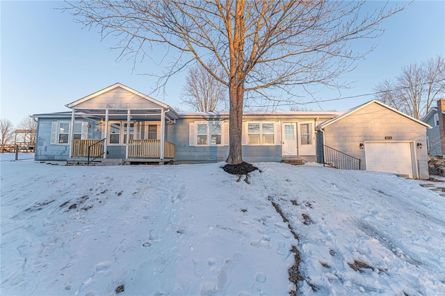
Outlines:
MULTIPOLYGON (((177 113, 170 106, 120 83, 66 106, 72 111, 33 115, 38 119, 36 161, 85 163, 88 149, 89 161, 97 157, 94 161, 103 164, 209 163, 225 161, 229 154, 227 112, 177 113)), ((412 172, 407 175, 428 179, 426 149, 416 148, 417 143, 426 143, 427 127, 428 124, 378 101, 347 113, 245 113, 243 159, 248 162, 304 159, 343 167, 339 161, 332 161, 333 158, 326 161, 323 156, 330 148, 324 147, 325 144, 350 154, 349 158, 362 158, 359 169, 382 170, 365 161, 372 148, 379 149, 378 143, 382 141, 407 143, 390 146, 409 148, 411 154, 407 161, 412 164, 412 172), (385 140, 387 136, 393 138, 385 140), (373 147, 374 142, 378 147, 373 147), (359 143, 364 145, 364 150, 359 149, 359 143)), ((390 168, 383 171, 405 174, 390 168)))

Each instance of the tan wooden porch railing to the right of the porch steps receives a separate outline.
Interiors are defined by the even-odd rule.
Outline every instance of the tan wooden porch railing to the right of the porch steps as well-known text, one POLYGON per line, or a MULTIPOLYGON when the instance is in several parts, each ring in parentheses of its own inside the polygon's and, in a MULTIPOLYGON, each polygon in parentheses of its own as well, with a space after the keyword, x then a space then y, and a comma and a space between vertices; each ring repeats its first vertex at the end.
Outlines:
MULTIPOLYGON (((129 140, 128 156, 130 158, 160 158, 161 140, 129 140)), ((164 157, 175 158, 175 144, 164 142, 164 157)))

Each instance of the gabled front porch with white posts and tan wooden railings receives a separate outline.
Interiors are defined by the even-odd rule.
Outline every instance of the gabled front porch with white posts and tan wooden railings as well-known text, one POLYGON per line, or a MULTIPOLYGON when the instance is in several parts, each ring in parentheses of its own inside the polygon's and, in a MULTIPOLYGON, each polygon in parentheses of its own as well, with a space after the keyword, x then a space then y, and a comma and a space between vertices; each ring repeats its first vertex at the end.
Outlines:
POLYGON ((175 124, 179 115, 160 101, 116 83, 66 106, 72 109, 68 135, 54 138, 69 143, 69 161, 122 164, 175 159, 175 145, 166 140, 168 125, 175 124))

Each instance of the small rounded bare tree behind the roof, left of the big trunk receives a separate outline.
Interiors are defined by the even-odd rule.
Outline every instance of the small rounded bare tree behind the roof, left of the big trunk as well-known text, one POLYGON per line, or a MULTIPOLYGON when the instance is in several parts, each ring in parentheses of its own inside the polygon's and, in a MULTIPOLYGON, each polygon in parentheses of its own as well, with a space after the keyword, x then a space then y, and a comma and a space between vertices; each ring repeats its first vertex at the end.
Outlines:
MULTIPOLYGON (((223 71, 218 71, 216 63, 207 62, 211 72, 223 76, 223 71)), ((213 112, 225 102, 227 88, 211 76, 202 65, 190 67, 186 84, 182 90, 181 100, 199 112, 213 112)))

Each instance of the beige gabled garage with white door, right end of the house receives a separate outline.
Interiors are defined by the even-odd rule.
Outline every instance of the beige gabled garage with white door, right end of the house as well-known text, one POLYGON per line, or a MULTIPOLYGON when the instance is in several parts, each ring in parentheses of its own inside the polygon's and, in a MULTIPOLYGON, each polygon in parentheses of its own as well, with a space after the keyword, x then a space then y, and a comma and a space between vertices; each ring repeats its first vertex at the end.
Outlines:
POLYGON ((361 170, 428 179, 428 128, 380 101, 369 101, 318 126, 318 157, 325 162, 323 154, 335 151, 357 160, 361 170))

